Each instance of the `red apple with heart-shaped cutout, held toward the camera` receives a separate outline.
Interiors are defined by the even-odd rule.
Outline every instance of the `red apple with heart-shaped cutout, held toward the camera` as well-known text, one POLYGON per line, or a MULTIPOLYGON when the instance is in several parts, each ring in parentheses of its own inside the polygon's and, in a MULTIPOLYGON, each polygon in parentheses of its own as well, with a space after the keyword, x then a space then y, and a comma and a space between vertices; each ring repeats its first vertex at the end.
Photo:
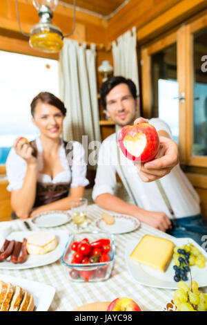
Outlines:
POLYGON ((119 147, 126 158, 146 163, 159 151, 159 136, 149 123, 126 125, 119 132, 119 147))

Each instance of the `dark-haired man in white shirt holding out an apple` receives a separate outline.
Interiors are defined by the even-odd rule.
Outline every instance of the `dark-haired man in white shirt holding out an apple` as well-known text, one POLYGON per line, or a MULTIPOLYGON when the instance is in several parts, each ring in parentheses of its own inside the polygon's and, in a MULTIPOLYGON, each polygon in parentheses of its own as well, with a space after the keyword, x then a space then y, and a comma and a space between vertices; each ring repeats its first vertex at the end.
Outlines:
POLYGON ((134 121, 143 122, 137 118, 139 101, 135 84, 124 77, 111 77, 102 84, 100 95, 103 108, 115 122, 117 132, 106 138, 99 149, 93 200, 103 209, 130 214, 163 232, 191 236, 201 243, 201 236, 207 231, 200 214, 199 196, 178 165, 177 145, 168 125, 158 118, 148 121, 157 129, 161 146, 154 160, 137 167, 121 153, 117 143, 122 127, 134 121), (114 195, 116 173, 134 201, 133 205, 114 195), (181 225, 179 228, 172 229, 173 214, 177 218, 176 225, 181 225), (186 224, 190 223, 193 226, 187 232, 186 224))

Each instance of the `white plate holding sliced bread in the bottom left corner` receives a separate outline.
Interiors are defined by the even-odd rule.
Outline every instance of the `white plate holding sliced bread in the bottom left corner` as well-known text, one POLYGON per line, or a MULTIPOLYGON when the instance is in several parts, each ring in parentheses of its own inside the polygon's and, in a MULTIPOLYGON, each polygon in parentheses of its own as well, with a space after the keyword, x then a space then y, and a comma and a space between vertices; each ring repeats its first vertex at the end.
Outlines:
POLYGON ((55 288, 47 284, 40 284, 36 281, 12 277, 10 275, 0 275, 0 280, 10 282, 13 286, 21 286, 34 297, 35 311, 47 311, 55 295, 55 288))

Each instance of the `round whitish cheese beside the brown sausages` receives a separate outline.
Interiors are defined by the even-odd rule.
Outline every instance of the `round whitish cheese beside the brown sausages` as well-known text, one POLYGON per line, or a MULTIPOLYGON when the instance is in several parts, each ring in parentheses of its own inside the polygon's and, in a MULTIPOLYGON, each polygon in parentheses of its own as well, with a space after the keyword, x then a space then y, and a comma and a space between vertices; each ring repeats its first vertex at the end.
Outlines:
POLYGON ((27 250, 29 254, 46 254, 57 246, 55 234, 52 232, 35 232, 28 237, 27 250))

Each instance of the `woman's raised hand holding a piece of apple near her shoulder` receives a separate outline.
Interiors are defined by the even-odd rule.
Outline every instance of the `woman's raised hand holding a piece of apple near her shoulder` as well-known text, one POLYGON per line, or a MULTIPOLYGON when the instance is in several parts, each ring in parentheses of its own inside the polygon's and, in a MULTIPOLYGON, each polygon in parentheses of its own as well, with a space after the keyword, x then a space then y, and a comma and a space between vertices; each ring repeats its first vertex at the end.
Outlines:
POLYGON ((26 160, 26 163, 28 163, 28 165, 36 165, 37 164, 37 158, 32 156, 33 149, 30 146, 30 143, 26 142, 26 139, 17 138, 14 141, 13 147, 14 147, 14 150, 16 151, 16 154, 19 155, 24 160, 26 160))

